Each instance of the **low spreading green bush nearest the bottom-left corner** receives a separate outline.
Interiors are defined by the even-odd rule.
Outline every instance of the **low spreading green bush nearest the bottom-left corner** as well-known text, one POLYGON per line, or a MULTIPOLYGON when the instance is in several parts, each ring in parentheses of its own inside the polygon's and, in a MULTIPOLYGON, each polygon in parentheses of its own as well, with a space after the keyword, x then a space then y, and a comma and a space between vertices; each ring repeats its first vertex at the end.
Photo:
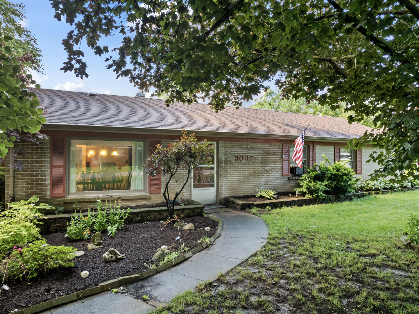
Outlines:
POLYGON ((44 239, 35 241, 31 247, 16 249, 0 265, 0 275, 10 281, 30 280, 40 272, 46 273, 56 267, 74 267, 68 258, 73 247, 47 245, 44 239))

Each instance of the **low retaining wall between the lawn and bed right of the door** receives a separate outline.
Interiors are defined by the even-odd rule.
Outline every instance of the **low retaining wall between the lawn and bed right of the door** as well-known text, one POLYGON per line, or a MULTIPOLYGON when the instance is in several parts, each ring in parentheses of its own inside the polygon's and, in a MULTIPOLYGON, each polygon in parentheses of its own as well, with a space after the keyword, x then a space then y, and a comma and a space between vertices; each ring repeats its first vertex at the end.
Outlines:
MULTIPOLYGON (((411 191, 419 189, 419 187, 402 187, 400 191, 411 191)), ((354 198, 364 197, 365 195, 374 195, 378 193, 391 193, 399 192, 397 190, 383 190, 383 191, 371 191, 371 192, 358 192, 347 194, 344 197, 337 197, 335 195, 328 195, 328 198, 324 200, 317 200, 315 197, 295 197, 295 198, 283 198, 279 200, 267 200, 263 202, 244 202, 238 200, 234 197, 223 197, 220 201, 221 204, 230 206, 236 210, 246 210, 252 206, 266 208, 267 206, 271 208, 279 208, 283 206, 292 207, 292 206, 303 206, 303 205, 313 205, 313 204, 326 204, 332 202, 343 202, 353 200, 354 198)))

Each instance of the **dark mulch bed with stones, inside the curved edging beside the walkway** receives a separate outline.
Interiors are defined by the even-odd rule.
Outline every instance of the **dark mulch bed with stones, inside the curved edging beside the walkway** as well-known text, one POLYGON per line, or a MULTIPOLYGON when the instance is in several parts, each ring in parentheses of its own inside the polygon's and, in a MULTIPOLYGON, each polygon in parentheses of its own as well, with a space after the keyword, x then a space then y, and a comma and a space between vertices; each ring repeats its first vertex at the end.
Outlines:
MULTIPOLYGON (((190 250, 201 245, 197 240, 207 235, 205 227, 211 228, 208 237, 217 232, 218 222, 208 217, 190 217, 184 218, 183 221, 195 226, 195 230, 179 229, 182 244, 190 250)), ((85 253, 74 258, 73 268, 55 268, 46 274, 39 274, 31 283, 8 283, 10 290, 2 291, 1 294, 0 313, 10 313, 14 309, 20 310, 83 290, 83 279, 80 276, 83 270, 89 272, 86 288, 93 288, 107 280, 144 272, 148 270, 145 264, 152 263, 151 258, 162 245, 168 246, 168 250, 172 252, 181 246, 181 242, 175 240, 179 236, 178 228, 170 224, 162 229, 160 221, 125 224, 114 238, 109 237, 106 231, 102 234, 103 247, 93 251, 87 249, 90 239, 70 241, 64 237, 65 232, 44 235, 49 245, 72 246, 85 253), (110 248, 126 254, 126 257, 116 262, 103 262, 102 255, 110 248)))

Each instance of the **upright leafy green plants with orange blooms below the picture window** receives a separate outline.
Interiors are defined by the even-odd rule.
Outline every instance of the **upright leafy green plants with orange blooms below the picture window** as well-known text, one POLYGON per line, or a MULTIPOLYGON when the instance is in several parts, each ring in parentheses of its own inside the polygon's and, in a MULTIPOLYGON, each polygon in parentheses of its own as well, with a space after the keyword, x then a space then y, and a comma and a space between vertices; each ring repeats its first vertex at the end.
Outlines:
POLYGON ((72 240, 88 239, 91 230, 103 231, 107 230, 109 236, 115 236, 118 230, 125 223, 125 219, 129 216, 130 210, 123 210, 121 206, 116 206, 108 202, 98 200, 96 203, 97 213, 93 213, 91 209, 87 211, 87 216, 82 216, 74 212, 69 223, 67 223, 67 233, 72 240))

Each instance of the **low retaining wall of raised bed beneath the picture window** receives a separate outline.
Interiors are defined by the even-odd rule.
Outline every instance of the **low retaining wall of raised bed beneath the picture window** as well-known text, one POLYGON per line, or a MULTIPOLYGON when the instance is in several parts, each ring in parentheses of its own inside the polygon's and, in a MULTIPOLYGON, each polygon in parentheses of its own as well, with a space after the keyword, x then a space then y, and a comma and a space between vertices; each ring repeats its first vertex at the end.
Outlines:
MULTIPOLYGON (((188 205, 175 206, 175 213, 177 215, 184 215, 184 217, 199 216, 204 213, 204 205, 194 200, 185 200, 188 205)), ((126 210, 124 210, 126 211, 126 210)), ((109 211, 108 211, 109 212, 109 211)), ((95 214, 97 212, 93 212, 95 214)), ((37 227, 41 229, 41 233, 48 234, 57 231, 67 230, 67 223, 70 222, 74 214, 62 215, 47 215, 39 219, 37 227), (47 218, 47 219, 45 219, 47 218)), ((76 215, 87 216, 87 213, 76 213, 76 215)), ((169 217, 169 212, 166 207, 154 208, 137 208, 131 209, 126 222, 144 222, 154 220, 166 220, 169 217)))

